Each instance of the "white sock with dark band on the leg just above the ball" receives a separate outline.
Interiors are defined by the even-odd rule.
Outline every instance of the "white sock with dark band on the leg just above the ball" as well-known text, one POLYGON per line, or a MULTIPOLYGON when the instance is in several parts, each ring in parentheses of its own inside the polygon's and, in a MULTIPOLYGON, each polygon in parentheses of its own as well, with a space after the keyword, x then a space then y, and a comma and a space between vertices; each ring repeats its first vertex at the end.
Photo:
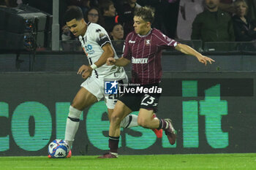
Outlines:
POLYGON ((69 107, 69 116, 67 117, 64 141, 67 142, 67 144, 69 144, 70 149, 74 142, 75 134, 78 131, 81 113, 82 111, 75 109, 72 106, 69 107))

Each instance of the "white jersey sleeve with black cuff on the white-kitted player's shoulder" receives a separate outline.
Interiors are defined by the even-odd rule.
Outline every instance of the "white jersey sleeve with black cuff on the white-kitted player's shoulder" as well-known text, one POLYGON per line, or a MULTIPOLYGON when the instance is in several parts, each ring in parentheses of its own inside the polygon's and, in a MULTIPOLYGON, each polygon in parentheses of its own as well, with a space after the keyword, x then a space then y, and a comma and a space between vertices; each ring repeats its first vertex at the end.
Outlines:
POLYGON ((105 44, 110 43, 110 38, 104 28, 95 28, 93 34, 97 44, 100 47, 103 47, 105 44))

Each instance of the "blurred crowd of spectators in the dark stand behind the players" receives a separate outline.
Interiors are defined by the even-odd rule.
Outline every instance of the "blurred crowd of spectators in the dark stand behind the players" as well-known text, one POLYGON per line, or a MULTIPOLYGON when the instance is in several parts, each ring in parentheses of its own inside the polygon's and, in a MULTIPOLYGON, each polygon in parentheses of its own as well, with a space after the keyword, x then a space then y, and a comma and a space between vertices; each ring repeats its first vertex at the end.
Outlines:
MULTIPOLYGON (((27 4, 53 14, 53 0, 0 0, 1 7, 27 4)), ((60 40, 76 40, 64 23, 64 12, 71 6, 83 10, 86 22, 98 23, 116 45, 122 46, 133 31, 136 8, 155 10, 154 28, 178 41, 254 42, 256 39, 256 0, 61 0, 59 1, 60 40)), ((69 45, 62 43, 63 50, 69 45)))

